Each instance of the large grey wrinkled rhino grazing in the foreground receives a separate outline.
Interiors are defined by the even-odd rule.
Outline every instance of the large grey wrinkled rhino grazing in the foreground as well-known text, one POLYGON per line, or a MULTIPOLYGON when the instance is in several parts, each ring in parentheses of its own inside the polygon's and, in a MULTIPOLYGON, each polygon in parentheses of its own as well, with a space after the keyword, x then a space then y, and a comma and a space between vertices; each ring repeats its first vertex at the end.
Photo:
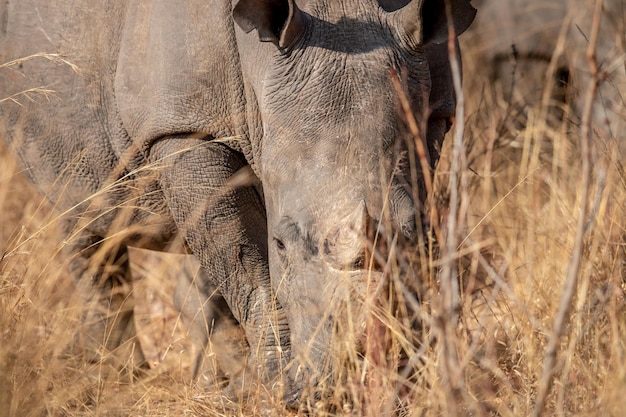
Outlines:
MULTIPOLYGON (((474 9, 452 4, 461 33, 474 9)), ((243 329, 246 379, 293 360, 297 401, 325 363, 329 308, 376 279, 366 224, 388 212, 416 234, 423 190, 390 69, 434 165, 454 113, 444 16, 435 0, 0 3, 3 62, 47 52, 78 68, 34 58, 0 73, 0 97, 55 91, 2 103, 0 134, 65 213, 71 272, 94 303, 76 343, 87 358, 128 347, 142 364, 126 247, 180 236, 205 272, 203 314, 217 322, 227 305, 243 329)))

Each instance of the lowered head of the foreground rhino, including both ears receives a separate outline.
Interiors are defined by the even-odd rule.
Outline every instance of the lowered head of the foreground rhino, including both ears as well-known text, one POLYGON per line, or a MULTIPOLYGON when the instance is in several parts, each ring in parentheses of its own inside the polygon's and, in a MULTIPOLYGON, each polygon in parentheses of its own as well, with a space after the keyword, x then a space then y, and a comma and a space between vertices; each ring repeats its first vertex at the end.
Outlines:
MULTIPOLYGON (((467 0, 450 3, 458 34, 475 10, 467 0)), ((390 74, 401 75, 417 119, 426 120, 425 48, 447 40, 444 5, 240 0, 234 9, 246 88, 260 115, 249 123, 256 129, 250 136, 259 138, 254 163, 272 287, 287 312, 297 364, 293 381, 319 376, 336 306, 363 298, 380 279, 364 262, 368 225, 388 213, 396 232, 416 234, 419 193, 411 189, 411 150, 390 74)))

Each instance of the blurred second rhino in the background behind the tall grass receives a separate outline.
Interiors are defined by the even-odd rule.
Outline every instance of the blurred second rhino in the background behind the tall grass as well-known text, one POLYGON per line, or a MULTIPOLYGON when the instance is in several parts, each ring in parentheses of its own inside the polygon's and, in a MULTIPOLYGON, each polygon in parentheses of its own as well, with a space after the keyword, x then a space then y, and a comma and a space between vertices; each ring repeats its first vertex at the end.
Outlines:
MULTIPOLYGON (((591 81, 586 51, 591 36, 594 1, 478 0, 476 23, 464 37, 466 50, 481 57, 493 78, 513 101, 536 105, 547 85, 555 52, 557 68, 569 74, 575 110, 580 114, 591 81), (513 45, 517 58, 513 57, 513 45)), ((601 82, 593 105, 593 127, 605 139, 621 141, 626 151, 626 3, 604 0, 596 58, 601 82), (621 139, 619 139, 621 138, 621 139)), ((484 66, 483 68, 484 69, 484 66)), ((555 97, 563 100, 565 97, 555 97)))

